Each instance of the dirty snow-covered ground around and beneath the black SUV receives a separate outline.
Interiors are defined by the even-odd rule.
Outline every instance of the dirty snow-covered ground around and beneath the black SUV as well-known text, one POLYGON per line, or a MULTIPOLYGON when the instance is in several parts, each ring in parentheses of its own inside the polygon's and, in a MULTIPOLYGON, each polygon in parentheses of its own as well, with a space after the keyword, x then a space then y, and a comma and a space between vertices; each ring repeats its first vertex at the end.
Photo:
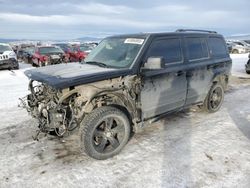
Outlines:
POLYGON ((80 155, 77 137, 33 141, 36 121, 21 108, 28 80, 0 71, 0 187, 249 187, 250 76, 247 54, 232 55, 233 78, 221 110, 196 107, 134 135, 108 160, 80 155))

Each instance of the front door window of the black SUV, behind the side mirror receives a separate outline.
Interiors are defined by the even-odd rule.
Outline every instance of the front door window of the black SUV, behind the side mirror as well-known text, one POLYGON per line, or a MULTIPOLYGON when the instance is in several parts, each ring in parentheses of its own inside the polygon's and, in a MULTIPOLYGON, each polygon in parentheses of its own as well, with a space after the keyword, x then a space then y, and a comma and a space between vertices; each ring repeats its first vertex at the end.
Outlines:
POLYGON ((163 57, 165 63, 180 62, 182 61, 181 40, 178 38, 155 40, 150 45, 146 57, 163 57))

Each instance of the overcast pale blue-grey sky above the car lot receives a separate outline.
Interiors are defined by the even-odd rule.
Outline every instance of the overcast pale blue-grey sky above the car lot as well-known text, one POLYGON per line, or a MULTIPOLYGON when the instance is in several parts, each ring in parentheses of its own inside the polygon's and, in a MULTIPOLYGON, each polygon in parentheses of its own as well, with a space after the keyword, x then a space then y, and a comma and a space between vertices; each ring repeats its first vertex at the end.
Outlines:
POLYGON ((74 39, 178 28, 249 34, 249 9, 250 0, 0 0, 0 38, 74 39))

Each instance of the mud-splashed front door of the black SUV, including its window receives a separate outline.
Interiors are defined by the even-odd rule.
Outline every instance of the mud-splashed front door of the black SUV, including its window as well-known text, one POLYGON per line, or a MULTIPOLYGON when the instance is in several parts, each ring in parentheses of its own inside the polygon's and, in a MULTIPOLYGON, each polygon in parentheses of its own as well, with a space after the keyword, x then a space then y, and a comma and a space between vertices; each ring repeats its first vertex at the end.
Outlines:
POLYGON ((146 52, 148 57, 163 57, 166 68, 142 72, 142 118, 151 118, 183 107, 186 99, 187 80, 183 65, 182 39, 156 38, 146 52))

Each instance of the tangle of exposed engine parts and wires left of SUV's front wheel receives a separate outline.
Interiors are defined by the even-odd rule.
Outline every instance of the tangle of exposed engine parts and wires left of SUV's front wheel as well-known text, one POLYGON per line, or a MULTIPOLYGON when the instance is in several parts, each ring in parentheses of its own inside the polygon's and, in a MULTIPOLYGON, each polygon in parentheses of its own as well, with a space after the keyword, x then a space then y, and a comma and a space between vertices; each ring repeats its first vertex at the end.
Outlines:
POLYGON ((29 84, 31 93, 24 106, 32 117, 39 121, 39 131, 43 133, 63 136, 77 126, 74 112, 74 97, 59 103, 62 96, 60 90, 55 90, 46 84, 29 84))

